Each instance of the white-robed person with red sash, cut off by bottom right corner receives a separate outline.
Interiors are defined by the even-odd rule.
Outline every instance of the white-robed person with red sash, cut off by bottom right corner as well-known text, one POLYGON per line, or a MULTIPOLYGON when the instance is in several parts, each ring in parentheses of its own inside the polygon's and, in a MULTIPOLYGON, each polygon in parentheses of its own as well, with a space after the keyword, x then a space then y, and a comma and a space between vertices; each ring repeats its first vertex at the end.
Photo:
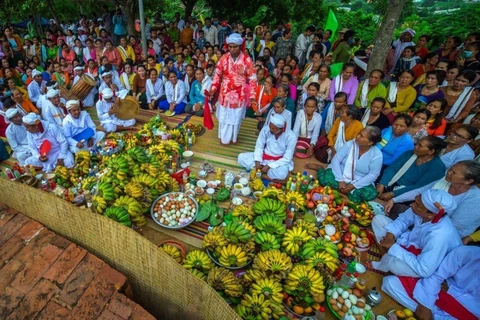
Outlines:
POLYGON ((480 248, 461 246, 443 259, 433 275, 423 279, 388 276, 382 290, 419 319, 480 318, 480 248), (442 289, 446 281, 448 291, 442 289))

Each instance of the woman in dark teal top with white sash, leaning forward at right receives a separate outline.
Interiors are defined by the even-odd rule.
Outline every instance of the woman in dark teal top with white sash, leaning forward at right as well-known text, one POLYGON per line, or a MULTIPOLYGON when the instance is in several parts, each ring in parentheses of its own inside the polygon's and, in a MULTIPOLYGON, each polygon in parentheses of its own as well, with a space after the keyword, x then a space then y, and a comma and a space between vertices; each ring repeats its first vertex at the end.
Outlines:
POLYGON ((438 154, 445 145, 434 136, 420 139, 413 150, 404 152, 385 169, 377 184, 378 198, 388 201, 443 177, 446 168, 438 154))

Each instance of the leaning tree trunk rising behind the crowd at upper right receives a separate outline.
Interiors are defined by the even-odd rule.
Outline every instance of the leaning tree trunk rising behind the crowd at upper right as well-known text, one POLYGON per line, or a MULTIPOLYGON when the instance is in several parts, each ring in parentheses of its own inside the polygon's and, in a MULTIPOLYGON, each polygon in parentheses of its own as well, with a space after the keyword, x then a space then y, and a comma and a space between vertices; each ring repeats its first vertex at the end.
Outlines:
POLYGON ((383 70, 388 50, 391 47, 393 32, 407 0, 389 0, 385 19, 378 30, 375 46, 372 50, 366 74, 373 69, 383 70))

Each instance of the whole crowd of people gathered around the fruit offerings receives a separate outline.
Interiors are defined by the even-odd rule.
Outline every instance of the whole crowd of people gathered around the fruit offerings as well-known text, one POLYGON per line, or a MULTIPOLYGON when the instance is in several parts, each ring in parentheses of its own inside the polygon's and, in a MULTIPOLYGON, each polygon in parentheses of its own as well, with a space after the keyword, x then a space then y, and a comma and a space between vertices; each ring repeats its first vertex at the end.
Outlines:
MULTIPOLYGON (((438 279, 461 283, 461 270, 480 279, 471 261, 478 250, 462 246, 480 240, 480 32, 431 48, 428 35, 407 28, 384 67, 367 74, 374 48, 355 30, 342 29, 333 41, 331 30, 311 25, 293 38, 280 22, 252 28, 156 14, 146 21, 143 53, 120 8, 105 6, 98 19, 50 20, 43 36, 33 21, 22 36, 11 26, 0 35, 0 135, 21 165, 69 167, 103 131, 132 129, 135 119, 116 117, 126 96, 165 116, 215 113, 224 146, 237 143, 250 117, 258 131, 248 134, 258 139, 253 152, 239 154, 241 166, 282 182, 295 154, 311 156, 316 161, 306 167, 322 185, 385 206, 389 217, 376 217, 373 229, 388 253, 374 267, 401 277, 387 277, 384 289, 402 304, 425 318, 452 315, 435 306, 438 279), (95 87, 82 101, 66 101, 62 92, 85 76, 95 87), (94 106, 102 131, 85 111, 94 106), (401 290, 407 282, 415 300, 401 290)), ((1 159, 9 158, 5 143, 0 147, 1 159)), ((464 307, 459 319, 478 318, 478 289, 451 288, 464 307)))

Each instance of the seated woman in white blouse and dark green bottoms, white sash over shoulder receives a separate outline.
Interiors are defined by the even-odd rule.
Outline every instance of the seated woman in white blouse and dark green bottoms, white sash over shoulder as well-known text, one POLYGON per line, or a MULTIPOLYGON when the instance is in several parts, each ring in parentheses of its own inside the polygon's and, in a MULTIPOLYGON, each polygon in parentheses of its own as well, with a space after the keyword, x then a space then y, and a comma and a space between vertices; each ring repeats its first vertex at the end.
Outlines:
POLYGON ((318 170, 321 185, 338 189, 354 202, 373 200, 377 196, 374 182, 380 175, 383 157, 375 145, 381 138, 380 129, 368 126, 338 150, 327 169, 311 163, 307 163, 307 168, 318 170))

